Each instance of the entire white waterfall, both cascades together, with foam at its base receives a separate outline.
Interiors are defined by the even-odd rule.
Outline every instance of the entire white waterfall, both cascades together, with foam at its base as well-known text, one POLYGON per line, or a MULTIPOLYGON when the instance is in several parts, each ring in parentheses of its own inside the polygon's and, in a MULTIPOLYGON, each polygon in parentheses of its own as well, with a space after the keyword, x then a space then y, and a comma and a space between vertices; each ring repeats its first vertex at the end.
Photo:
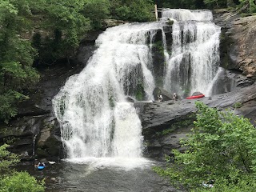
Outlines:
POLYGON ((128 169, 148 163, 142 158, 141 122, 126 96, 153 99, 152 47, 159 30, 166 59, 164 88, 180 95, 210 93, 220 34, 210 11, 163 10, 160 22, 109 28, 98 37, 86 68, 70 77, 53 100, 69 161, 128 169), (172 45, 164 31, 170 19, 172 45))

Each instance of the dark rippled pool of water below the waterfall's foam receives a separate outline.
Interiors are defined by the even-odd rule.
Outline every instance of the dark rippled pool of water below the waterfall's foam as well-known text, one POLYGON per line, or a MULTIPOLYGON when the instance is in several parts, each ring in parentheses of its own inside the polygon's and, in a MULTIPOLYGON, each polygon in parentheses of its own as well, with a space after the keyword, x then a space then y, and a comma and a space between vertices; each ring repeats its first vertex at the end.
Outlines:
POLYGON ((86 164, 60 162, 36 170, 34 166, 21 166, 38 179, 45 178, 46 191, 86 192, 167 192, 170 184, 154 173, 150 166, 123 170, 114 167, 92 168, 86 164))

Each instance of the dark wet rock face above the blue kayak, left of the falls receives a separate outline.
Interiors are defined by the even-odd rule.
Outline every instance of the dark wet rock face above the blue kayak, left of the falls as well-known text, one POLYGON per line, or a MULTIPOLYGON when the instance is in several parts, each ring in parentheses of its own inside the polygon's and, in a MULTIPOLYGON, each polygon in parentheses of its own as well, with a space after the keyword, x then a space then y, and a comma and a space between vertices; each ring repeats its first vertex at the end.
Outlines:
POLYGON ((57 119, 50 114, 18 118, 0 127, 0 142, 9 144, 9 150, 21 155, 22 160, 56 160, 62 156, 59 130, 57 119))

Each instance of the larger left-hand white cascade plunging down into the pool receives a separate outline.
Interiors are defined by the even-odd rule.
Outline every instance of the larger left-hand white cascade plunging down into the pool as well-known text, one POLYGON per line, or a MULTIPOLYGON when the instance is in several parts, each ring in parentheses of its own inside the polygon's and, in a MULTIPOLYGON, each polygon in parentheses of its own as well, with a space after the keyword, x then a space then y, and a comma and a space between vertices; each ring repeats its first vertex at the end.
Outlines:
POLYGON ((158 22, 126 24, 101 34, 87 66, 54 97, 68 158, 140 158, 142 126, 133 103, 142 86, 152 99, 150 42, 158 22))

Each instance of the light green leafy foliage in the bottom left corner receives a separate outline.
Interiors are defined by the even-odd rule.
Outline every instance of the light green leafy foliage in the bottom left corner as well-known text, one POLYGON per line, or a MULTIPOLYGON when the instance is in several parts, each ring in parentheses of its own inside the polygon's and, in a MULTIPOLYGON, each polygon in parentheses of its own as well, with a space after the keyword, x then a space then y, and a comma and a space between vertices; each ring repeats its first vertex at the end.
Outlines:
POLYGON ((45 190, 44 182, 37 180, 26 172, 11 170, 18 160, 16 154, 6 150, 8 145, 0 146, 0 192, 42 192, 45 190))

